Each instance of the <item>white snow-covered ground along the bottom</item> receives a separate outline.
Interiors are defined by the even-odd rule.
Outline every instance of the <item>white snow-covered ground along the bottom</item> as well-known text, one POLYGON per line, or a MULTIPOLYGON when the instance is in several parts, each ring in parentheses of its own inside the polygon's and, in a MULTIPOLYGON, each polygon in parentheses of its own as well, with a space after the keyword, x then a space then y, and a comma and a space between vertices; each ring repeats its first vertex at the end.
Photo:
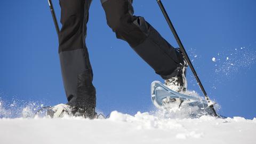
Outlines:
POLYGON ((254 143, 256 118, 160 118, 113 111, 108 119, 2 118, 1 143, 254 143))

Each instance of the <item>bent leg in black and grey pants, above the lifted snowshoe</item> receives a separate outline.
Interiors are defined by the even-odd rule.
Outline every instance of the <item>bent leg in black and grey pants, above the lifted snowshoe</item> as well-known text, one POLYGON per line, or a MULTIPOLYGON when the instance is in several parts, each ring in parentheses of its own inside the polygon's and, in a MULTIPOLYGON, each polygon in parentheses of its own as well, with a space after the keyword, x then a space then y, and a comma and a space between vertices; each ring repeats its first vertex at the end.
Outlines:
POLYGON ((101 0, 108 26, 116 37, 128 42, 158 75, 169 79, 183 63, 175 50, 143 17, 133 15, 132 0, 101 0))

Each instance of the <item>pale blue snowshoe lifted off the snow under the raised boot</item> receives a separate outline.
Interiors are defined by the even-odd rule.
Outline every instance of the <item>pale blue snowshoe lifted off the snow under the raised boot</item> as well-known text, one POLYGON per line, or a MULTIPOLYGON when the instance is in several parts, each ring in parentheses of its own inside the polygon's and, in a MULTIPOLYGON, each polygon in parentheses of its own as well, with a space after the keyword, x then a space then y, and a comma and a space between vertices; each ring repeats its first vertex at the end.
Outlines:
POLYGON ((175 92, 159 81, 151 83, 151 100, 159 109, 186 110, 189 117, 213 115, 213 111, 203 98, 175 92))

